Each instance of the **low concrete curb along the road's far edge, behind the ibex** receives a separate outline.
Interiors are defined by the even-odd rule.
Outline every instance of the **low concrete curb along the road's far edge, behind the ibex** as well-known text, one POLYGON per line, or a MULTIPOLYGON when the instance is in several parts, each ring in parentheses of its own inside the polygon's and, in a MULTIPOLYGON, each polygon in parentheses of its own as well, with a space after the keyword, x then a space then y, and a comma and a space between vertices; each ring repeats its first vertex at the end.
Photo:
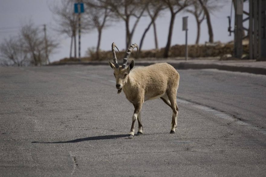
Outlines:
MULTIPOLYGON (((148 66, 155 64, 156 62, 140 62, 135 63, 138 66, 148 66)), ((201 64, 201 63, 188 63, 188 62, 167 62, 176 69, 219 69, 224 71, 233 71, 233 72, 247 72, 252 74, 262 74, 266 75, 266 68, 258 67, 247 67, 247 66, 232 66, 232 65, 222 65, 222 64, 201 64)), ((82 63, 58 63, 51 64, 47 66, 55 65, 108 65, 107 62, 82 62, 82 63)))

